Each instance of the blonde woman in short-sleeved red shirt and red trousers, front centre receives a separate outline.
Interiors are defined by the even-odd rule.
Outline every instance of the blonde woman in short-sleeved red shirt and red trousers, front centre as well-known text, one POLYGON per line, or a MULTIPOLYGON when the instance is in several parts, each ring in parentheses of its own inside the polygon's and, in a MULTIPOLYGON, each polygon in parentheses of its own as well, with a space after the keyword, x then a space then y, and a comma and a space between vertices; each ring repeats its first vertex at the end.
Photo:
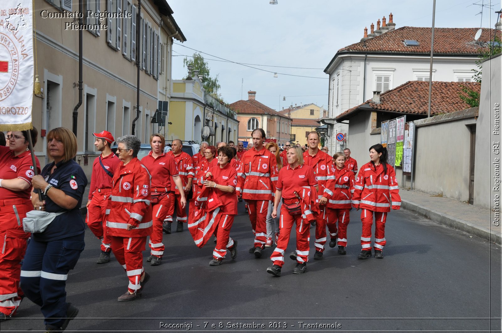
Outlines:
MULTIPOLYGON (((310 223, 307 213, 303 208, 295 213, 290 213, 287 206, 301 205, 302 198, 315 194, 317 182, 314 176, 314 170, 304 163, 302 149, 293 146, 288 149, 289 165, 279 171, 279 180, 277 181, 277 190, 274 199, 274 210, 272 218, 277 217, 277 207, 281 198, 283 205, 279 218, 279 240, 277 247, 272 253, 270 259, 274 262, 272 267, 267 268, 267 273, 275 276, 281 275, 281 268, 284 265, 284 252, 289 243, 289 237, 293 224, 296 223, 296 254, 292 253, 291 258, 297 262, 293 273, 302 274, 307 269, 309 259, 309 234, 310 223), (313 192, 312 192, 312 190, 313 192), (294 215, 292 215, 294 214, 294 215), (295 254, 293 256, 293 254, 295 254)), ((313 198, 316 200, 317 198, 313 198)), ((310 215, 312 213, 310 212, 310 215)))

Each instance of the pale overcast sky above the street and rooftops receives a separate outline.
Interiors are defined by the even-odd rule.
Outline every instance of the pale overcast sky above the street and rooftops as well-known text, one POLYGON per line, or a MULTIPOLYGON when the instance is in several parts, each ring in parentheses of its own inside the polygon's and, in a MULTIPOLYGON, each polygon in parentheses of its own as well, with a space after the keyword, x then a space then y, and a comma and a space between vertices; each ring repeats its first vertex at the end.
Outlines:
MULTIPOLYGON (((184 56, 180 55, 191 56, 195 51, 186 48, 189 47, 206 53, 201 54, 209 64, 211 76, 219 75, 219 92, 225 102, 247 99, 247 91, 255 90, 258 101, 276 110, 295 103, 327 107, 328 76, 323 70, 337 50, 360 41, 364 27, 369 33, 369 26, 373 23, 376 27, 376 20, 382 21, 385 16, 389 22, 391 12, 396 29, 432 26, 432 0, 278 2, 270 5, 269 0, 168 0, 187 39, 183 46, 177 45, 178 41, 173 46, 173 79, 186 75, 184 56), (216 57, 246 64, 315 69, 249 65, 272 72, 269 73, 209 60, 216 57), (278 73, 277 78, 274 72, 278 73)), ((435 27, 493 28, 497 21, 494 12, 498 10, 500 0, 437 0, 435 27), (482 22, 482 7, 478 6, 481 4, 491 5, 483 7, 482 22)))

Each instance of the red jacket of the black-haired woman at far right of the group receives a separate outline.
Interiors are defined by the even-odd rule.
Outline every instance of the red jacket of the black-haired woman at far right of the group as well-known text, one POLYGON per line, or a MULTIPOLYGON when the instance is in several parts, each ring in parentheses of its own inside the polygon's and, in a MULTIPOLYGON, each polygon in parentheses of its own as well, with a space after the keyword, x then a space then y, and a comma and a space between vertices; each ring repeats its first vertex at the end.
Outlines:
POLYGON ((390 212, 391 206, 392 209, 401 208, 398 180, 390 164, 387 164, 386 174, 382 164, 376 168, 371 162, 364 164, 359 170, 354 188, 354 208, 373 212, 390 212))

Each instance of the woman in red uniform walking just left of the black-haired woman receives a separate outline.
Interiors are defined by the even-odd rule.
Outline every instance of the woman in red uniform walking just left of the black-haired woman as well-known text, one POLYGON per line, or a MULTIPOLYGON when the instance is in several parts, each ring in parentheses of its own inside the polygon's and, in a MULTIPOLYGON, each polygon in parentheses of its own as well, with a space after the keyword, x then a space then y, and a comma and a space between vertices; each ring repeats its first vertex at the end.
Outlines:
POLYGON ((326 205, 327 225, 329 230, 329 247, 338 244, 338 253, 346 254, 347 225, 350 222, 349 211, 352 208, 351 197, 354 193, 354 173, 345 168, 345 154, 337 152, 333 155, 335 167, 332 167, 334 179, 326 182, 324 195, 319 205, 326 205), (338 221, 338 230, 336 222, 338 221), (338 234, 338 237, 337 237, 338 234))

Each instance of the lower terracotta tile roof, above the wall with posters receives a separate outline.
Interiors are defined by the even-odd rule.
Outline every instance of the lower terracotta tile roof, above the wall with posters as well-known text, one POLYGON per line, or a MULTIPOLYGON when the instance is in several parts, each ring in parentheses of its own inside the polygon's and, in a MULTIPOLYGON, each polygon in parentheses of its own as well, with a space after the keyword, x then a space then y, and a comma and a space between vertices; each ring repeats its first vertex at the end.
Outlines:
MULTIPOLYGON (((480 92, 481 83, 477 82, 432 82, 431 115, 467 109, 470 106, 460 99, 462 86, 480 92)), ((380 95, 380 104, 371 103, 371 99, 341 113, 335 119, 348 119, 349 114, 361 110, 384 110, 402 113, 427 114, 429 100, 429 82, 408 81, 397 88, 380 95)))

